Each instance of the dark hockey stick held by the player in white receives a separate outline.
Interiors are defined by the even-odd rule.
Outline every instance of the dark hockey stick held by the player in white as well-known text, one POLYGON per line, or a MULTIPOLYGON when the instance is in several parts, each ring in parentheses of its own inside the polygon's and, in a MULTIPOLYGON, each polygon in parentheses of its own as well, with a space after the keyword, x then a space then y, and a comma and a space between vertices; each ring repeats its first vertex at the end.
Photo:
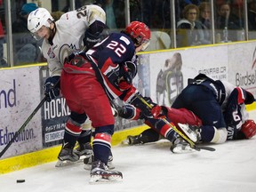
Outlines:
MULTIPOLYGON (((59 83, 60 83, 60 79, 58 80, 58 82, 57 82, 56 84, 54 84, 54 85, 52 86, 52 89, 53 89, 57 84, 59 84, 59 83)), ((5 146, 5 148, 0 152, 0 158, 1 158, 2 156, 4 156, 4 153, 6 152, 6 150, 7 150, 8 148, 10 148, 10 146, 12 145, 12 143, 14 142, 14 140, 16 140, 16 138, 20 135, 20 132, 22 132, 22 131, 25 129, 25 127, 28 125, 28 123, 29 123, 30 120, 33 118, 33 116, 36 115, 36 112, 39 110, 39 108, 41 108, 41 107, 44 105, 44 102, 45 102, 46 98, 47 98, 47 95, 44 96, 43 100, 40 101, 40 103, 37 105, 37 107, 34 109, 34 111, 31 113, 31 115, 28 116, 27 120, 25 121, 24 124, 21 125, 20 129, 19 129, 17 132, 15 132, 15 134, 14 134, 12 140, 10 140, 10 141, 7 143, 7 145, 5 146)))

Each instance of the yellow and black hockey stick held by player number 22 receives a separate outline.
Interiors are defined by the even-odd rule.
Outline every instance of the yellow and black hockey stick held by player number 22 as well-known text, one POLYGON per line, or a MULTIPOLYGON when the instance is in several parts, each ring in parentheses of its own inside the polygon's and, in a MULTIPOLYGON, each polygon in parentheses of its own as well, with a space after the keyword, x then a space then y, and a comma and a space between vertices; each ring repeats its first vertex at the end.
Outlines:
MULTIPOLYGON (((147 100, 144 100, 139 94, 135 94, 135 96, 141 101, 143 102, 145 105, 147 105, 148 108, 152 108, 152 106, 150 106, 147 102, 147 100)), ((205 147, 205 146, 196 146, 195 142, 193 140, 190 140, 188 138, 188 136, 186 134, 184 134, 183 132, 180 132, 180 130, 174 125, 174 124, 171 124, 166 117, 161 117, 161 119, 164 121, 165 124, 168 124, 170 127, 172 127, 172 129, 177 132, 180 137, 183 139, 183 140, 186 140, 188 142, 188 144, 190 145, 191 148, 194 148, 196 150, 201 150, 201 149, 204 149, 204 150, 209 150, 209 151, 215 151, 215 148, 210 148, 210 147, 205 147)))

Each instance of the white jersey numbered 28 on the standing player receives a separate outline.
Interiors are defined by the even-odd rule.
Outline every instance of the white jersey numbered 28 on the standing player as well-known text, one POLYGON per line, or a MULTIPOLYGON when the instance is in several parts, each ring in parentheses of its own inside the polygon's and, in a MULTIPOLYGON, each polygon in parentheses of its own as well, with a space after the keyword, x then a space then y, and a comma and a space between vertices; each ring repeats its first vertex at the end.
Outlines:
POLYGON ((105 24, 106 13, 100 6, 92 4, 66 12, 55 22, 56 33, 52 45, 46 39, 42 44, 51 76, 60 76, 64 59, 72 52, 79 52, 84 48, 84 32, 95 20, 105 24))

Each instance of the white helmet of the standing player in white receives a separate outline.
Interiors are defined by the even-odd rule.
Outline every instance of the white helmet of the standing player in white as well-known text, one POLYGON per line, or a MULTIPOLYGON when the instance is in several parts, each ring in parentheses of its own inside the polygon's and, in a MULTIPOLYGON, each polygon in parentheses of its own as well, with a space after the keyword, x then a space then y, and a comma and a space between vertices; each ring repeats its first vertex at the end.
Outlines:
POLYGON ((35 34, 42 26, 50 28, 52 21, 53 18, 50 12, 44 8, 38 8, 28 15, 28 30, 35 34))

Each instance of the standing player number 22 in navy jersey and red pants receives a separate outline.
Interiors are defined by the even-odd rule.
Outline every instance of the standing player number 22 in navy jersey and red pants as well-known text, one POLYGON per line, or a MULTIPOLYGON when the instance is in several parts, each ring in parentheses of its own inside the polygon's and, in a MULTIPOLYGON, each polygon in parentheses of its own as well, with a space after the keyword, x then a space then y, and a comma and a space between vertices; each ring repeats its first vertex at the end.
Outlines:
MULTIPOLYGON (((70 55, 64 64, 60 89, 68 108, 77 114, 85 113, 95 128, 92 182, 123 178, 121 172, 107 168, 115 123, 109 100, 119 97, 128 101, 137 92, 132 89, 135 71, 130 68, 136 68, 135 53, 144 50, 149 40, 149 28, 133 21, 123 32, 109 35, 86 53, 70 55)), ((76 126, 71 128, 72 132, 79 132, 76 126)), ((64 140, 74 142, 76 137, 70 135, 64 140)))

